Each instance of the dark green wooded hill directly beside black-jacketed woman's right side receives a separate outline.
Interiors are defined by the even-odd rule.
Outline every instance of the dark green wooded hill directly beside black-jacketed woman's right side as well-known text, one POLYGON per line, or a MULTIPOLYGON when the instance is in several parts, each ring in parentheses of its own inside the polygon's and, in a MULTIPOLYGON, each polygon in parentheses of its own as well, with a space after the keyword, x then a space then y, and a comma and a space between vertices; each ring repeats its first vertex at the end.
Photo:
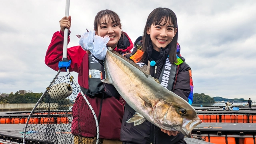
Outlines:
POLYGON ((212 104, 214 103, 214 98, 211 98, 210 96, 202 93, 193 94, 193 104, 212 104))

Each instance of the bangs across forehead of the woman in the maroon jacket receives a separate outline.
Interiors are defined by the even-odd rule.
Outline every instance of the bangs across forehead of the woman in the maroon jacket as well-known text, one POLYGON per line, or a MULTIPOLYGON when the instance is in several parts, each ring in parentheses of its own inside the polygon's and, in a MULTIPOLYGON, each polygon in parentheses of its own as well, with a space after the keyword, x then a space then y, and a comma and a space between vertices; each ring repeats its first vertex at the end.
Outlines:
MULTIPOLYGON (((102 22, 103 22, 103 23, 107 23, 107 21, 110 22, 110 23, 116 22, 116 24, 118 25, 118 27, 121 28, 120 18, 119 18, 118 15, 115 14, 115 13, 112 13, 112 12, 110 12, 110 11, 104 11, 104 12, 102 12, 102 13, 99 15, 99 18, 98 18, 98 24, 99 24, 99 26, 100 26, 100 22, 101 22, 100 20, 101 20, 101 19, 102 19, 102 22)), ((101 26, 100 26, 100 28, 101 28, 101 26)))

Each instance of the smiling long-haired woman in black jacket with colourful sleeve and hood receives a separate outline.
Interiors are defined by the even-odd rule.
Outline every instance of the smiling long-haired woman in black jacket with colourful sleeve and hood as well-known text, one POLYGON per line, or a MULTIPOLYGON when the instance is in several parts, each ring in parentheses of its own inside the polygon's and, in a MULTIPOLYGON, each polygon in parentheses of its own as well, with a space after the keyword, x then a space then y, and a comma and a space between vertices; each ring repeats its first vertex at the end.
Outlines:
MULTIPOLYGON (((193 82, 191 69, 180 55, 178 41, 177 18, 168 8, 156 8, 148 16, 143 37, 134 43, 131 54, 126 54, 139 65, 150 61, 150 74, 157 78, 168 90, 184 98, 190 104, 193 99, 193 82), (170 66, 170 76, 166 78, 164 71, 170 66)), ((121 127, 121 141, 123 144, 186 144, 184 135, 176 131, 158 128, 147 120, 138 126, 126 123, 134 114, 128 104, 125 105, 121 127)))

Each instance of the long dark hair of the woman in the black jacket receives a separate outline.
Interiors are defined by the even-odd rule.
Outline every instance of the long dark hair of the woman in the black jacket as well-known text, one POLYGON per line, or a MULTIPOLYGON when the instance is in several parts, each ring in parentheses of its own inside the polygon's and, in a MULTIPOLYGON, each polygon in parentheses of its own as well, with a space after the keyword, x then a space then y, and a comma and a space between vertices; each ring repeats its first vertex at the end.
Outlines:
MULTIPOLYGON (((150 39, 150 35, 147 34, 147 29, 150 28, 152 24, 154 25, 170 24, 170 25, 173 25, 174 28, 178 29, 176 14, 169 8, 156 8, 149 14, 146 22, 146 26, 144 28, 143 37, 142 37, 143 55, 141 57, 141 61, 146 64, 148 63, 148 47, 152 43, 150 39)), ((172 63, 177 62, 177 57, 176 57, 177 42, 178 42, 178 30, 176 32, 176 35, 172 39, 172 42, 170 42, 170 44, 166 46, 166 48, 169 49, 169 60, 172 63)))

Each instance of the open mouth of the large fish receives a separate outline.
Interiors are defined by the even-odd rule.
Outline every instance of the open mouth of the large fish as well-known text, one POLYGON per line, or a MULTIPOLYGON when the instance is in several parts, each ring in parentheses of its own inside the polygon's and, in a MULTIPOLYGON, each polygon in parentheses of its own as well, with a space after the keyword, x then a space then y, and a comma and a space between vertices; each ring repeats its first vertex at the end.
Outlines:
POLYGON ((201 124, 202 120, 200 120, 199 118, 196 120, 187 120, 187 119, 183 119, 183 125, 182 128, 180 128, 180 132, 182 134, 184 134, 184 136, 191 138, 191 131, 198 125, 201 124))

